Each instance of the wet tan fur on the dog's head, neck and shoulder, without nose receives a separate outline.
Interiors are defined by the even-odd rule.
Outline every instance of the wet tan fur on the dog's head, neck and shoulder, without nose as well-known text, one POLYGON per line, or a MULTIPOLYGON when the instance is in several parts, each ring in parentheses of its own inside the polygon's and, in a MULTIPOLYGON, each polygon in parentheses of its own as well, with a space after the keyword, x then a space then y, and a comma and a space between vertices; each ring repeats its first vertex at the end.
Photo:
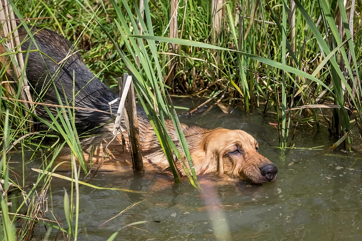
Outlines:
MULTIPOLYGON (((166 124, 171 138, 177 141, 177 135, 174 131, 172 121, 166 120, 166 124)), ((167 169, 169 167, 168 161, 151 125, 147 122, 141 122, 140 127, 145 171, 160 172, 167 169)), ((250 179, 254 183, 264 183, 267 181, 265 177, 261 175, 259 168, 271 162, 257 152, 257 141, 247 132, 223 128, 208 130, 197 126, 189 127, 184 124, 183 129, 197 175, 218 172, 220 175, 227 175, 234 179, 250 179), (239 146, 243 150, 243 154, 228 154, 232 152, 236 146, 239 146)), ((111 130, 113 130, 112 125, 109 126, 109 132, 111 132, 111 130)), ((122 148, 121 135, 118 135, 108 146, 109 155, 102 166, 102 170, 131 170, 132 163, 128 136, 126 132, 123 132, 123 135, 126 140, 125 152, 123 152, 122 148)), ((94 146, 93 167, 99 164, 106 143, 108 143, 108 141, 94 146)), ((184 161, 187 163, 181 147, 178 149, 184 161)), ((89 151, 88 149, 85 154, 88 161, 90 161, 89 151)), ((62 159, 64 160, 64 157, 62 159)), ((180 161, 176 162, 176 166, 181 174, 185 175, 180 161)))

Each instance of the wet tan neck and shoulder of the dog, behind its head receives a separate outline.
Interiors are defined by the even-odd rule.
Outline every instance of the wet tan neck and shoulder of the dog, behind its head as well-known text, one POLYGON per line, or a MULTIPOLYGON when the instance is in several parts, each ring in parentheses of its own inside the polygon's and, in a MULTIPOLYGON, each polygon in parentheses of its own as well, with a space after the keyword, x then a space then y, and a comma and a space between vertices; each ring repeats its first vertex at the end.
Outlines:
MULTIPOLYGON (((140 136, 140 146, 142 149, 143 163, 145 170, 158 170, 164 171, 169 168, 168 160, 163 152, 163 149, 160 146, 160 142, 153 130, 148 119, 139 118, 139 136, 140 136)), ((188 161, 185 158, 184 151, 178 140, 178 135, 174 129, 173 122, 171 120, 165 120, 167 132, 176 145, 178 152, 181 154, 181 160, 176 158, 176 155, 173 155, 176 167, 181 175, 186 175, 184 168, 182 167, 182 161, 185 165, 189 167, 188 161)), ((194 169, 197 175, 202 175, 206 173, 212 173, 217 171, 218 160, 216 160, 216 155, 211 153, 206 153, 205 150, 205 140, 207 135, 212 131, 202 127, 197 126, 187 126, 181 123, 182 131, 184 132, 186 143, 188 144, 189 151, 191 153, 191 159, 194 164, 194 169)), ((113 124, 109 124, 105 127, 102 135, 97 138, 100 140, 92 139, 89 140, 89 143, 97 143, 106 141, 109 143, 113 139, 113 124), (108 133, 108 135, 106 135, 108 133), (108 137, 106 137, 108 136, 108 137)), ((98 146, 97 153, 93 155, 94 166, 96 163, 99 163, 101 156, 103 154, 106 143, 98 146)), ((127 131, 122 131, 122 135, 117 135, 116 139, 113 140, 108 146, 108 160, 105 164, 106 167, 111 169, 122 169, 121 166, 131 166, 132 158, 130 153, 129 137, 127 131), (122 136, 125 140, 125 146, 122 145, 122 136), (124 151, 123 151, 124 149, 124 151), (113 163, 113 164, 112 164, 113 163), (111 166, 114 165, 112 168, 111 166)))

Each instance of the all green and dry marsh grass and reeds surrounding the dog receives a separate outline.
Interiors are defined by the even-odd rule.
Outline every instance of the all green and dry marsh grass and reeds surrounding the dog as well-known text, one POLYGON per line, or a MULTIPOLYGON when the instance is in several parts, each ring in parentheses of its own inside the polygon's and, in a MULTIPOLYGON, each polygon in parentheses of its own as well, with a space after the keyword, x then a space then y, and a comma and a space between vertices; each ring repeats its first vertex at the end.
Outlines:
MULTIPOLYGON (((117 78, 123 73, 132 75, 138 104, 153 121, 174 179, 180 182, 173 162, 181 154, 165 131, 164 120, 172 119, 187 158, 183 168, 195 189, 199 184, 180 128, 180 112, 203 110, 207 116, 217 108, 224 114, 236 108, 261 114, 268 130, 277 136, 271 145, 280 160, 288 157, 293 148, 339 148, 350 154, 360 149, 360 0, 146 3, 3 1, 0 18, 3 28, 9 27, 9 34, 14 34, 16 26, 5 19, 17 16, 29 28, 47 28, 64 36, 74 44, 73 53, 79 51, 87 67, 116 92, 117 78), (13 16, 9 15, 12 10, 13 16), (182 102, 173 105, 171 98, 175 96, 201 101, 195 106, 182 102), (204 109, 205 105, 208 108, 204 109), (304 128, 323 132, 324 136, 328 131, 331 139, 317 148, 302 145, 298 135, 304 128)), ((87 190, 114 190, 120 195, 138 191, 96 186, 86 178, 87 174, 92 176, 91 167, 84 160, 80 139, 87 133, 76 131, 73 101, 47 106, 42 93, 29 96, 34 88, 26 83, 24 71, 29 50, 20 51, 21 43, 16 42, 15 36, 5 36, 1 44, 7 47, 7 53, 1 57, 11 61, 1 65, 1 236, 4 240, 31 240, 33 235, 44 240, 60 236, 76 240, 78 232, 86 233, 79 223, 82 185, 90 188, 87 190), (15 79, 7 74, 9 69, 14 71, 15 79), (58 115, 49 111, 51 122, 38 118, 34 113, 36 105, 56 107, 58 115), (49 130, 37 131, 37 123, 45 124, 49 130), (53 162, 64 147, 73 153, 70 175, 54 172, 57 166, 53 162), (29 180, 30 166, 39 174, 29 180), (68 186, 62 200, 65 219, 60 222, 55 215, 49 218, 49 206, 53 205, 52 183, 62 179, 68 186), (59 231, 58 236, 54 230, 59 231)), ((124 205, 125 210, 118 216, 142 205, 141 201, 124 205)), ((149 222, 125 222, 118 230, 111 230, 109 240, 115 239, 125 226, 149 222)))

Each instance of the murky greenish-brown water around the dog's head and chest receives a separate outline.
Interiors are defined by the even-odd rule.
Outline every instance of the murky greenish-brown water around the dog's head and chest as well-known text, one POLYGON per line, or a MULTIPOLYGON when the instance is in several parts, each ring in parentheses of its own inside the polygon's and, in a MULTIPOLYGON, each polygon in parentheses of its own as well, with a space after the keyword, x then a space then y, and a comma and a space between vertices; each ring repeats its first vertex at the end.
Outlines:
MULTIPOLYGON (((190 102, 177 99, 175 104, 188 106, 190 102)), ((277 130, 268 124, 270 118, 257 113, 234 110, 223 114, 219 108, 213 108, 205 115, 181 115, 180 119, 186 124, 251 133, 259 141, 261 154, 278 167, 277 181, 264 185, 240 182, 209 186, 204 194, 187 182, 144 194, 83 186, 79 214, 83 228, 79 240, 107 240, 117 229, 145 220, 160 222, 126 227, 115 240, 361 240, 361 159, 347 157, 339 150, 333 154, 341 156, 315 155, 318 151, 311 149, 287 150, 281 158, 280 151, 274 148, 278 144, 277 130), (125 214, 105 223, 141 200, 144 201, 125 214)), ((298 148, 331 144, 327 128, 322 128, 319 135, 307 126, 296 131, 298 148)), ((28 177, 36 176, 31 172, 28 177)), ((134 177, 132 173, 102 173, 92 184, 147 191, 159 182, 158 178, 150 174, 134 177)), ((49 208, 66 227, 63 187, 69 190, 70 183, 56 178, 52 181, 49 208)), ((51 218, 50 213, 47 215, 51 218)), ((39 228, 45 233, 43 227, 39 228)), ((55 235, 52 233, 53 239, 55 235)))

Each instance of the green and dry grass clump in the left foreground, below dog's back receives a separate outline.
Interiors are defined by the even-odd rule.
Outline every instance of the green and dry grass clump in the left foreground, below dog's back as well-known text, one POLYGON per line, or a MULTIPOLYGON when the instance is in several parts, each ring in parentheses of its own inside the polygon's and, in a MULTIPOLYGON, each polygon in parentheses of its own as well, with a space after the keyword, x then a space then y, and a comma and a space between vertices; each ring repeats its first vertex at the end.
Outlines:
MULTIPOLYGON (((20 12, 14 7, 14 12, 18 16, 18 18, 22 19, 20 12)), ((24 23, 24 21, 22 21, 24 23)), ((33 40, 33 44, 37 47, 37 43, 34 41, 34 38, 27 26, 25 29, 28 31, 30 39, 33 40)), ((6 38, 1 39, 0 43, 6 44, 8 36, 6 38)), ((3 56, 9 55, 12 58, 11 54, 18 53, 18 48, 9 49, 8 53, 3 54, 3 56), (10 51, 14 50, 13 53, 10 51)), ((28 62, 29 50, 24 51, 26 57, 24 58, 24 64, 26 66, 28 62)), ((71 54, 71 53, 69 53, 71 54)), ((42 61, 42 60, 39 60, 42 61)), ((5 74, 6 68, 12 67, 11 65, 6 66, 2 63, 2 75, 1 78, 7 80, 8 77, 5 74)), ((58 69, 59 70, 59 69, 58 69)), ((44 88, 40 93, 36 93, 34 91, 33 100, 35 105, 43 105, 42 94, 43 91, 46 91, 49 86, 54 84, 54 79, 57 78, 58 71, 54 75, 48 74, 44 88)), ((73 73, 73 76, 74 73, 73 73)), ((21 72, 21 76, 19 79, 25 78, 25 71, 21 72)), ((2 230, 0 232, 0 237, 3 237, 4 240, 30 240, 33 237, 33 231, 37 227, 37 225, 42 224, 47 227, 46 237, 51 235, 52 229, 58 230, 63 233, 64 237, 67 237, 67 240, 77 240, 77 235, 79 232, 79 185, 87 185, 88 187, 96 188, 96 189, 110 189, 110 190, 120 190, 127 191, 130 190, 120 189, 120 188, 102 188, 97 187, 88 183, 84 183, 79 181, 80 176, 80 168, 77 168, 75 157, 79 161, 80 167, 83 169, 84 173, 88 173, 88 166, 85 163, 83 150, 80 145, 80 140, 78 133, 75 128, 75 91, 74 91, 74 83, 75 79, 73 78, 73 98, 72 100, 67 100, 66 96, 64 96, 65 103, 63 103, 62 98, 59 94, 58 89, 55 88, 56 97, 58 99, 58 103, 54 103, 51 105, 43 105, 43 108, 46 110, 48 117, 43 119, 35 115, 32 110, 26 108, 26 102, 19 100, 20 98, 20 89, 21 83, 13 84, 10 82, 1 82, 1 129, 2 136, 0 144, 3 146, 3 150, 1 151, 1 172, 0 172, 0 180, 1 180, 1 211, 2 211, 2 230), (3 88, 3 84, 13 84, 13 92, 9 92, 8 89, 3 88), (58 104, 58 105, 57 105, 58 104), (51 111, 51 108, 53 111, 51 111), (55 111, 54 111, 55 110, 55 111), (55 113, 55 114, 54 114, 55 113), (26 118, 28 115, 34 117, 34 119, 46 127, 48 127, 48 131, 43 132, 31 132, 29 128, 33 125, 33 121, 26 118), (57 135, 54 135, 57 133, 57 135), (58 143, 60 138, 58 136, 63 137, 63 143, 58 143), (43 144, 43 140, 45 137, 57 137, 55 143, 52 146, 46 146, 43 144), (36 140, 36 141, 35 141, 36 140), (11 145, 10 145, 11 143, 11 145), (20 145, 17 145, 17 144, 20 145), (64 145, 68 145, 71 153, 71 167, 72 167, 72 177, 68 178, 66 176, 54 174, 54 171, 62 165, 64 162, 58 163, 55 167, 53 166, 55 158, 60 153, 64 145), (16 172, 12 177, 9 175, 9 172, 12 170, 10 165, 11 163, 11 153, 14 149, 19 148, 23 154, 22 158, 22 184, 18 183, 16 172), (42 152, 41 158, 42 163, 40 165, 41 169, 33 169, 33 171, 39 172, 38 178, 34 183, 31 183, 30 188, 28 187, 29 183, 25 183, 25 174, 28 173, 28 170, 25 170, 25 163, 32 161, 33 157, 30 160, 25 159, 24 152, 33 152, 33 156, 38 152, 42 152), (48 158, 51 157, 49 160, 48 158), (52 169, 51 169, 52 168, 52 169), (50 184, 52 178, 62 178, 65 180, 71 181, 70 187, 70 196, 67 191, 64 192, 64 216, 67 221, 67 230, 63 228, 63 225, 60 225, 56 218, 53 216, 53 222, 44 222, 42 220, 43 216, 51 212, 47 209, 48 195, 50 190, 50 184), (15 178, 13 180, 13 178, 15 178), (11 188, 10 188, 11 187, 11 188), (14 195, 15 192, 15 195, 14 195), (15 212, 9 212, 9 206, 12 206, 13 203, 8 201, 8 195, 10 195, 12 200, 19 200, 20 197, 23 197, 23 201, 21 201, 18 205, 14 205, 12 208, 15 212), (15 225, 18 221, 22 222, 20 228, 15 229, 15 225)), ((64 92, 64 91, 63 91, 64 92)), ((38 158, 39 155, 36 155, 38 158)), ((135 192, 135 191, 132 191, 135 192)), ((16 202, 15 202, 16 203, 16 202)), ((15 204, 14 203, 14 204, 15 204)))

